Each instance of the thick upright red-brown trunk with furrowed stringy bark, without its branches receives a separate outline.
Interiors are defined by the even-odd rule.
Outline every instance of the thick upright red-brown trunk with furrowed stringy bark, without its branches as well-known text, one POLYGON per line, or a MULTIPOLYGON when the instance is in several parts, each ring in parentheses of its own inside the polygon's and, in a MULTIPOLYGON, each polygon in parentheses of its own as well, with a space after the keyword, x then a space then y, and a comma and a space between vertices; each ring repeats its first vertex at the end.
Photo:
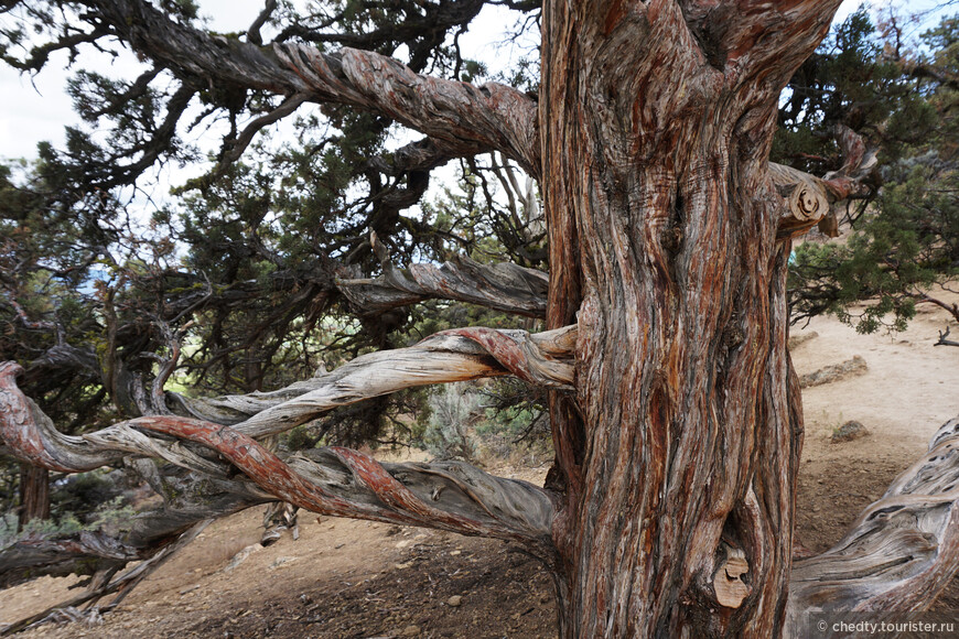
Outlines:
POLYGON ((548 321, 579 322, 579 411, 552 407, 565 637, 785 618, 802 421, 767 158, 832 11, 730 4, 545 8, 548 321))

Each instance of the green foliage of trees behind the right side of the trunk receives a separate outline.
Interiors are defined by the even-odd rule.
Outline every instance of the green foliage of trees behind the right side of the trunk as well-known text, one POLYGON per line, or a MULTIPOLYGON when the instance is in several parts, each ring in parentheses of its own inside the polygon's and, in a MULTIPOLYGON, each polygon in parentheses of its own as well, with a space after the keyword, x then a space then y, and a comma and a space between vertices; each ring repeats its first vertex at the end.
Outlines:
MULTIPOLYGON (((860 10, 831 41, 790 84, 797 116, 780 118, 779 150, 788 155, 805 148, 793 155, 828 169, 821 131, 842 123, 872 140, 882 169, 870 197, 847 209, 848 241, 797 248, 790 268, 795 320, 828 312, 863 333, 902 331, 916 304, 928 303, 959 322, 959 306, 933 292, 934 284, 949 286, 959 275, 959 20, 942 19, 922 34, 919 48, 905 51, 901 43, 883 46, 860 10), (853 314, 851 304, 862 300, 877 303, 853 314)), ((940 332, 938 344, 959 345, 949 332, 940 332)))

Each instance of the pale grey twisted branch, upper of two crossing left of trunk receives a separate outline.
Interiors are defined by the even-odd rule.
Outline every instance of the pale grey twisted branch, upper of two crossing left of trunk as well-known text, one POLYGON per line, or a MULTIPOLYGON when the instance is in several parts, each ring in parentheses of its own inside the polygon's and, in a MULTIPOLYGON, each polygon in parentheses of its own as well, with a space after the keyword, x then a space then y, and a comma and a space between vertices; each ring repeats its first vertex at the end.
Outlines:
MULTIPOLYGON (((335 407, 431 383, 515 375, 556 389, 573 388, 575 327, 531 335, 525 331, 463 328, 439 333, 409 348, 364 355, 333 372, 268 393, 215 400, 175 397, 194 418, 235 424, 252 437, 281 433, 335 407)), ((188 450, 143 437, 157 418, 138 418, 74 437, 63 435, 17 388, 22 369, 0 364, 0 436, 32 464, 62 472, 88 470, 119 461, 125 454, 159 456, 170 462, 204 465, 188 450), (119 446, 119 447, 118 447, 119 446)))

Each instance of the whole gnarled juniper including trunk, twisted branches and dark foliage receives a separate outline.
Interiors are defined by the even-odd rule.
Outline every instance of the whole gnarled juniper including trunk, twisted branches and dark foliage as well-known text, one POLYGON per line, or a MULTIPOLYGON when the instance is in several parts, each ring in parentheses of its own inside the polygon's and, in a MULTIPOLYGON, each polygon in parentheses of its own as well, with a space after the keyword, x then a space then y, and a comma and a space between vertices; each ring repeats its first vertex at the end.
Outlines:
MULTIPOLYGON (((948 583, 959 539, 941 522, 957 506, 937 484, 948 473, 927 472, 946 455, 864 513, 854 553, 791 561, 802 442, 786 350, 791 240, 870 192, 873 156, 848 124, 829 130, 840 153, 825 178, 769 153, 780 91, 839 0, 504 2, 541 35, 538 82, 526 65, 500 76, 515 86, 473 84, 482 69, 459 55, 484 4, 349 0, 300 14, 268 0, 240 34, 211 32, 192 2, 3 4, 2 54, 19 68, 61 51, 83 61, 90 46, 128 47, 147 66, 129 82, 77 77, 77 106, 103 131, 74 129, 50 150, 47 186, 63 186, 37 206, 62 199, 64 219, 83 223, 76 260, 108 270, 79 280, 100 281, 97 325, 66 343, 95 355, 121 421, 58 432, 18 386, 41 351, 18 356, 26 369, 0 364, 0 436, 56 472, 129 466, 164 505, 122 533, 12 543, 0 585, 104 571, 73 604, 122 596, 146 570, 115 577, 128 561, 155 565, 204 521, 274 501, 520 543, 554 577, 565 637, 806 636, 813 603, 880 618, 891 602, 922 609, 948 583), (257 156, 258 132, 301 109, 300 143, 257 156), (180 133, 214 118, 229 130, 184 187, 201 196, 155 218, 169 235, 112 216, 151 166, 193 160, 180 133), (387 151, 394 122, 424 138, 387 151), (541 218, 502 158, 539 182, 541 218), (454 159, 474 191, 510 184, 509 214, 472 207, 467 188, 453 204, 468 219, 402 215, 454 159), (526 266, 475 259, 491 234, 526 266), (548 274, 528 268, 543 252, 548 274), (547 331, 461 326, 405 346, 407 307, 428 300, 547 331), (362 328, 344 331, 357 356, 273 389, 320 368, 323 322, 362 328), (276 445, 360 400, 509 375, 547 393, 556 461, 542 488, 462 462, 276 445), (176 380, 187 388, 174 392, 176 380)), ((12 280, 11 324, 55 335, 56 310, 17 311, 25 280, 12 280)))

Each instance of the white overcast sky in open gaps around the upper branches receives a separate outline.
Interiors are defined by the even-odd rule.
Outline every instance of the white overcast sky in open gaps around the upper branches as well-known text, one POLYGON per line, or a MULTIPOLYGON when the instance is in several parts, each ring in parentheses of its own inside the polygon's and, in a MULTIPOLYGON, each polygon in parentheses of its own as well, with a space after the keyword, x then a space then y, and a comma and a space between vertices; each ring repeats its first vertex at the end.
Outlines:
MULTIPOLYGON (((212 19, 213 29, 233 32, 246 31, 263 2, 262 0, 203 0, 200 4, 201 13, 212 19)), ((841 20, 859 4, 858 0, 847 0, 837 19, 841 20)), ((916 0, 908 3, 910 9, 918 4, 916 0)), ((473 26, 465 39, 461 39, 464 51, 471 51, 470 55, 481 59, 489 59, 502 54, 493 44, 483 43, 502 39, 500 33, 491 33, 491 31, 498 32, 509 26, 502 20, 491 19, 488 13, 485 18, 473 26)), ((0 26, 9 25, 10 20, 9 15, 0 15, 0 26)), ((64 140, 64 124, 78 121, 65 93, 67 78, 67 71, 63 68, 65 61, 65 55, 53 58, 47 68, 36 77, 21 76, 14 69, 0 64, 0 96, 2 96, 0 98, 0 156, 35 158, 37 142, 47 140, 55 145, 61 145, 64 140)), ((78 67, 86 66, 100 72, 105 71, 106 65, 112 65, 116 75, 126 77, 136 77, 133 74, 138 68, 138 63, 132 56, 116 62, 111 62, 107 56, 99 58, 90 56, 82 57, 79 62, 78 67)))

